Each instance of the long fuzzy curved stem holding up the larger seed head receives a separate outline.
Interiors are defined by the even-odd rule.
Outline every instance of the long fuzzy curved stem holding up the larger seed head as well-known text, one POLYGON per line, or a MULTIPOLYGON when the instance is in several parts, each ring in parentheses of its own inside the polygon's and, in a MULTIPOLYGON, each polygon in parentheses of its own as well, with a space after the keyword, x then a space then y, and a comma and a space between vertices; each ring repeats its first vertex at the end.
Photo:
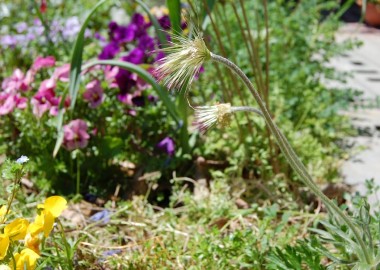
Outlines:
MULTIPOLYGON (((279 145, 281 151, 285 155, 287 161, 289 162, 290 166, 296 171, 298 176, 301 178, 301 180, 304 182, 304 184, 317 196, 319 197, 325 205, 327 205, 335 214, 337 214, 340 218, 343 219, 343 221, 346 223, 346 225, 351 229, 353 232, 356 241, 359 243, 360 247, 363 250, 363 254, 365 256, 366 262, 368 264, 372 263, 370 254, 368 252, 368 248, 366 247, 362 237, 360 236, 360 232, 358 231, 357 227, 352 223, 350 218, 333 202, 331 201, 323 192, 319 189, 319 187, 314 183, 312 177, 307 172, 307 169, 305 165, 299 160, 298 156, 294 152, 293 148, 291 147, 288 140, 285 138, 285 136, 281 133, 279 128, 276 126, 274 121, 272 120, 265 103, 261 99, 259 93, 251 83, 251 81, 248 79, 248 77, 245 75, 245 73, 234 63, 232 63, 230 60, 210 53, 211 60, 215 62, 219 62, 228 68, 230 68, 233 72, 235 72, 244 82, 244 84, 248 87, 249 91, 255 98, 258 106, 260 107, 262 116, 266 122, 266 124, 269 127, 269 130, 275 137, 277 144, 279 145)), ((257 113, 256 109, 255 112, 257 113)))

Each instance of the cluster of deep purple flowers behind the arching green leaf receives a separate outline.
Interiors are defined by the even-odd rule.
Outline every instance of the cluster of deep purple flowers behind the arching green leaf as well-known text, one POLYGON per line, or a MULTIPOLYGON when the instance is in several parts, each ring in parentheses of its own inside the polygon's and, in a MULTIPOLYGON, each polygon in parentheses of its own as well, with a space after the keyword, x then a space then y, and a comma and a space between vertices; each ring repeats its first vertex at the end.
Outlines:
MULTIPOLYGON (((163 12, 158 18, 159 23, 164 29, 170 27, 170 20, 167 12, 163 12)), ((163 57, 161 52, 154 54, 152 51, 159 46, 157 39, 149 35, 151 23, 143 15, 135 13, 128 25, 119 25, 116 22, 110 22, 108 25, 108 43, 105 38, 96 34, 96 37, 102 41, 103 49, 99 54, 99 59, 120 58, 135 65, 148 64, 150 66, 155 61, 163 57), (128 51, 125 52, 125 48, 128 51)), ((153 68, 147 68, 148 72, 153 72, 153 68)), ((124 70, 113 68, 113 76, 108 77, 113 85, 116 85, 120 92, 119 101, 134 106, 144 106, 142 91, 147 84, 136 74, 124 70)), ((154 97, 148 97, 148 100, 154 100, 154 97)))

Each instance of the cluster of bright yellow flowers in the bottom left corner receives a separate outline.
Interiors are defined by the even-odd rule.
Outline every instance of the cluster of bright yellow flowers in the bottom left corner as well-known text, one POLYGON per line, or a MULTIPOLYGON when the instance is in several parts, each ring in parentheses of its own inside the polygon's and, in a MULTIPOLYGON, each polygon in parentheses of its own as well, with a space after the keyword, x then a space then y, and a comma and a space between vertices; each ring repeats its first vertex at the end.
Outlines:
MULTIPOLYGON (((0 234, 0 260, 8 262, 8 265, 0 265, 0 268, 35 269, 41 254, 41 242, 49 236, 55 219, 61 215, 66 204, 64 198, 52 196, 37 206, 38 214, 33 222, 30 223, 25 218, 16 218, 6 224, 0 234), (22 244, 24 248, 13 253, 16 246, 22 244)), ((6 221, 6 212, 7 206, 4 205, 0 208, 2 223, 6 221)))

